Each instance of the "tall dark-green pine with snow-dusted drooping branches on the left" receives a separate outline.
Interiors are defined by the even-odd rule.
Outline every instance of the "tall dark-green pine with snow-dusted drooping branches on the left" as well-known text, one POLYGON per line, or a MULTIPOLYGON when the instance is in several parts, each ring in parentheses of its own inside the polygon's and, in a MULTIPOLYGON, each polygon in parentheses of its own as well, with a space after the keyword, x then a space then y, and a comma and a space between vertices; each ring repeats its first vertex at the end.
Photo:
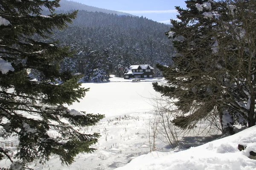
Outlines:
POLYGON ((0 137, 18 140, 14 156, 0 147, 0 159, 9 159, 10 169, 28 168, 32 161, 44 163, 52 154, 71 164, 76 154, 93 152, 90 145, 100 136, 81 129, 104 115, 65 107, 79 102, 88 91, 80 87, 81 77, 60 71, 60 62, 72 53, 56 42, 33 38, 47 38, 76 17, 77 11, 54 14, 58 6, 59 0, 0 1, 0 137), (42 8, 51 14, 41 15, 42 8))

